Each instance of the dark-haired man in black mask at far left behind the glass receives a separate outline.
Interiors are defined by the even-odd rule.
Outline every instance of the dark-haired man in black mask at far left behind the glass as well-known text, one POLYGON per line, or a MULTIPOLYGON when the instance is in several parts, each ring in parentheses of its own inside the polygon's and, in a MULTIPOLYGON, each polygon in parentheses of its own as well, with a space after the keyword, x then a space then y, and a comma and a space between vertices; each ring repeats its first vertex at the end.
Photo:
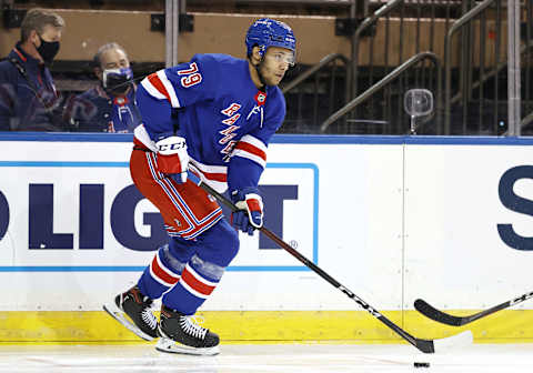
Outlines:
POLYGON ((0 62, 0 130, 61 131, 60 95, 48 67, 59 51, 63 19, 31 9, 22 20, 20 41, 0 62))

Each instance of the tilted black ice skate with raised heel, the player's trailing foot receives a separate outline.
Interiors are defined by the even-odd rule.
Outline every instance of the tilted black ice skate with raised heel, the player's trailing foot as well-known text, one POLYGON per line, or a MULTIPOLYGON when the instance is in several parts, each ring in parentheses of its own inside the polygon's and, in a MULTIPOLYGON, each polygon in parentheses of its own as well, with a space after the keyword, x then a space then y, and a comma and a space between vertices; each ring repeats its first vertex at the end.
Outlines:
POLYGON ((158 336, 158 319, 152 313, 152 302, 133 286, 117 295, 111 304, 104 304, 103 310, 141 339, 152 341, 158 336))

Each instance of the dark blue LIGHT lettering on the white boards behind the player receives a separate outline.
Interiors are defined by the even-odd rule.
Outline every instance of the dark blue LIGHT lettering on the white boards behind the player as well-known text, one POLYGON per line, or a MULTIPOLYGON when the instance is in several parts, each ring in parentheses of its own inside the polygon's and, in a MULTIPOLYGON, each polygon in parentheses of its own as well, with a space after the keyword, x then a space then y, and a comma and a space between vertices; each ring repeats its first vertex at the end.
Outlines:
MULTIPOLYGON (((29 249, 73 250, 73 233, 53 231, 53 184, 29 185, 29 249)), ((261 185, 265 205, 264 224, 283 236, 283 202, 298 200, 298 185, 261 185)), ((157 212, 143 212, 142 223, 150 226, 150 236, 135 229, 134 211, 144 198, 134 185, 122 189, 113 199, 109 221, 117 241, 127 249, 153 251, 168 241, 163 220, 157 212)), ((78 244, 81 250, 104 249, 104 184, 80 184, 78 244)), ((229 210, 224 211, 227 216, 229 210)), ((8 201, 0 193, 0 233, 9 225, 8 201)), ((269 238, 260 235, 259 249, 279 249, 269 238)))

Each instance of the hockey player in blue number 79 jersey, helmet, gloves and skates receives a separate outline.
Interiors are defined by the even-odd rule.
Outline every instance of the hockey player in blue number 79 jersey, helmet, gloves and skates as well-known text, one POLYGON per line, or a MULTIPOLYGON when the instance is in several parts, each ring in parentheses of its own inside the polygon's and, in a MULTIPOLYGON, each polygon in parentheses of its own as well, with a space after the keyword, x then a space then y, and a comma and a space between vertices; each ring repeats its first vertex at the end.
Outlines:
POLYGON ((219 336, 191 316, 239 251, 238 231, 188 171, 219 192, 229 188, 242 209, 231 216, 235 228, 253 234, 263 223, 258 183, 285 115, 276 85, 294 64, 295 38, 285 23, 264 18, 250 27, 245 44, 247 60, 197 54, 147 77, 138 90, 143 124, 134 131, 131 177, 161 212, 170 240, 137 285, 104 309, 139 336, 160 336, 160 351, 219 352, 219 336), (161 296, 158 323, 151 304, 161 296))

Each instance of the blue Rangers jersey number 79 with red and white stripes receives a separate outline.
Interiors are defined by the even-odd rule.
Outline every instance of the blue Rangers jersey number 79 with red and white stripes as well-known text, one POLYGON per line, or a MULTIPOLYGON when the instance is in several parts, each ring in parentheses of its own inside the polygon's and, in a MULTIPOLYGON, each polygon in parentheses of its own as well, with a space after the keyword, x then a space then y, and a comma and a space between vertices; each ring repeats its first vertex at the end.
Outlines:
POLYGON ((143 125, 135 138, 157 151, 158 140, 182 135, 191 163, 219 192, 258 185, 285 117, 281 90, 259 91, 248 60, 227 54, 197 54, 147 77, 137 100, 143 125))

